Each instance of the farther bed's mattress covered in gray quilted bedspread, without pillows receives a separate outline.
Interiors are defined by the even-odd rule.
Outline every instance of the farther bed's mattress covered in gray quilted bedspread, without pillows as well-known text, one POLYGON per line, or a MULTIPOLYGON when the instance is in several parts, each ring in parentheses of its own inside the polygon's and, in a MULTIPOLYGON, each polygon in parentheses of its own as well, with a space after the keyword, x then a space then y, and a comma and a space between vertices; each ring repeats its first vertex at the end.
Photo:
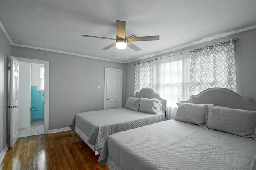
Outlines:
POLYGON ((75 129, 94 151, 100 153, 108 136, 165 120, 165 114, 148 114, 130 109, 108 109, 78 113, 75 129))

